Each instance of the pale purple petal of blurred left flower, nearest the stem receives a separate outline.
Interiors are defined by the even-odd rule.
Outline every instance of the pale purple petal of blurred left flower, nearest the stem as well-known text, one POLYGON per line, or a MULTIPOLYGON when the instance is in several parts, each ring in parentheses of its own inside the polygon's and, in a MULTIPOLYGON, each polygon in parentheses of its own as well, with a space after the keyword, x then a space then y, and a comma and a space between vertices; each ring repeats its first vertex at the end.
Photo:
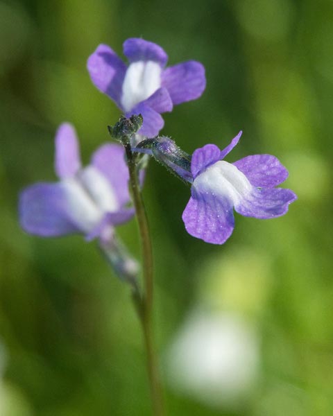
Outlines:
POLYGON ((110 182, 120 205, 130 200, 128 192, 128 167, 124 160, 124 150, 119 144, 104 144, 92 155, 92 165, 110 182))

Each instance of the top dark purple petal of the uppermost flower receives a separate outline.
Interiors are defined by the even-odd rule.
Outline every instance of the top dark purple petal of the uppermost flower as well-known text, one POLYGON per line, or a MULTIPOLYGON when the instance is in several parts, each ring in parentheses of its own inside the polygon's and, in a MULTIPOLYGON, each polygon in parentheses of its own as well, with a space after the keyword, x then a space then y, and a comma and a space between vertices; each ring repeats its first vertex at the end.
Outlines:
POLYGON ((161 67, 164 67, 168 60, 168 55, 161 46, 139 37, 131 37, 123 42, 123 54, 130 62, 152 60, 158 62, 161 67))

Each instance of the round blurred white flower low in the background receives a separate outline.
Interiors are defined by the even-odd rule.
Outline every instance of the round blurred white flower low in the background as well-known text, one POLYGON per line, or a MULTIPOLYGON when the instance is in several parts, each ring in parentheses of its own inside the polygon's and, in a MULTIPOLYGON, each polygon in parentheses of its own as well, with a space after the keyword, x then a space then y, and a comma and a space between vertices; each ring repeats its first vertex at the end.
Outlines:
POLYGON ((173 388, 211 406, 238 406, 259 373, 259 339, 238 315, 194 311, 167 354, 173 388))

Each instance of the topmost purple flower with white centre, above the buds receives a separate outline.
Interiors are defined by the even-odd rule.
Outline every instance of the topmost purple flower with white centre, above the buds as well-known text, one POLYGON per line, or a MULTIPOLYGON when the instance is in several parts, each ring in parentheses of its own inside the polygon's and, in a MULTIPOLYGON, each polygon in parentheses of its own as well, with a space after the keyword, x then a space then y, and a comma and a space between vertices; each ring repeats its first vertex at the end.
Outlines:
POLYGON ((161 113, 200 97, 205 89, 202 64, 190 60, 164 69, 167 53, 153 42, 130 38, 123 43, 123 54, 128 66, 109 46, 101 44, 89 57, 87 68, 94 85, 112 98, 126 117, 142 114, 140 135, 157 136, 164 125, 161 113))

